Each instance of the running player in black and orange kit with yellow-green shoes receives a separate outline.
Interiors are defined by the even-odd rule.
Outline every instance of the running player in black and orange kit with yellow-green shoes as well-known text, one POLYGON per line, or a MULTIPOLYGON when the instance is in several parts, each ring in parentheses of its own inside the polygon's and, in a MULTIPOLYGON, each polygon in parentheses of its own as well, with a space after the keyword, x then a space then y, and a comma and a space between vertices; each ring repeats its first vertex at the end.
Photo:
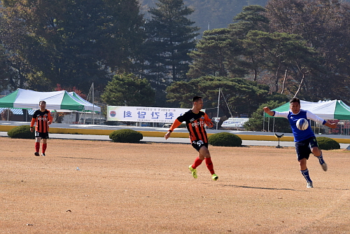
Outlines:
POLYGON ((203 98, 200 96, 193 97, 193 108, 184 113, 182 116, 176 118, 169 131, 165 135, 165 139, 168 139, 175 128, 179 127, 183 121, 186 121, 188 132, 190 132, 190 140, 193 148, 198 151, 198 157, 195 159, 193 165, 188 168, 194 178, 197 178, 197 167, 202 164, 203 160, 207 165, 209 172, 211 173, 211 179, 217 180, 218 176, 214 172, 214 166, 211 162, 211 156, 208 150, 208 137, 205 131, 205 125, 209 128, 213 127, 207 113, 201 111, 203 107, 203 98))

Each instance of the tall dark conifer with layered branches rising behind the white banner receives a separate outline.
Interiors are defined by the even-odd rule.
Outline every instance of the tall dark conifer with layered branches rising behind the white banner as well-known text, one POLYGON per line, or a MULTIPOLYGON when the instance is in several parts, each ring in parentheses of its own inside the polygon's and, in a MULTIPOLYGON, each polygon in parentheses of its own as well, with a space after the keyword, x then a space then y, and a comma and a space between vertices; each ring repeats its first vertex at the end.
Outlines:
POLYGON ((195 48, 198 28, 186 18, 193 10, 183 0, 159 0, 156 6, 150 9, 151 20, 145 25, 144 76, 162 98, 172 81, 186 80, 188 53, 195 48))

